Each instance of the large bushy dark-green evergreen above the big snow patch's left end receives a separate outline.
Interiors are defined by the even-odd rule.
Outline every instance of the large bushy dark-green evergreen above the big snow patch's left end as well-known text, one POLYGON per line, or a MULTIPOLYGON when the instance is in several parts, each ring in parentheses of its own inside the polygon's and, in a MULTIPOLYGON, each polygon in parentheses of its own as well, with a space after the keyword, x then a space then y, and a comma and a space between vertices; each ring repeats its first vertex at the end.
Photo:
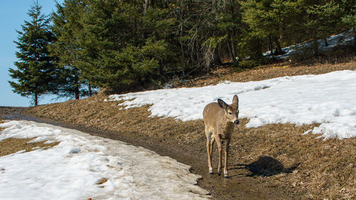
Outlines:
POLYGON ((161 18, 167 11, 146 8, 142 1, 88 1, 87 9, 80 39, 80 52, 88 58, 83 75, 115 90, 159 84, 164 71, 159 65, 174 57, 164 40, 171 22, 161 18))

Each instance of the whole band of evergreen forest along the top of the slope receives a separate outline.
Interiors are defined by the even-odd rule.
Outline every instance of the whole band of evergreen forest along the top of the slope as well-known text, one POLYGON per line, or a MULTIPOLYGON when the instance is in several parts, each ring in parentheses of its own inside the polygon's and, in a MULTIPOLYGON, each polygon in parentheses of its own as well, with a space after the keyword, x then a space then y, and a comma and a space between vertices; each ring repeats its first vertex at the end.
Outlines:
POLYGON ((38 105, 40 95, 79 99, 161 88, 216 65, 253 68, 268 62, 263 52, 307 41, 320 56, 318 40, 350 29, 355 38, 355 12, 354 0, 65 0, 45 15, 34 1, 9 83, 38 105))

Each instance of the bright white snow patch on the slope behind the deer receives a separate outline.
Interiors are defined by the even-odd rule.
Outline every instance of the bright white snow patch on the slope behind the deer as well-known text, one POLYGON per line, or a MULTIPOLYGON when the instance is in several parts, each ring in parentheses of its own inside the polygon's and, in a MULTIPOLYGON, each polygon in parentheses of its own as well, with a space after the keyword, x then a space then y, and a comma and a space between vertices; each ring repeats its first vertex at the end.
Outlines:
POLYGON ((152 105, 151 117, 187 121, 202 119, 204 106, 218 98, 231 103, 235 94, 239 117, 250 119, 246 127, 318 123, 308 132, 322 134, 325 140, 356 137, 356 70, 110 95, 109 101, 125 100, 118 105, 126 109, 152 105))

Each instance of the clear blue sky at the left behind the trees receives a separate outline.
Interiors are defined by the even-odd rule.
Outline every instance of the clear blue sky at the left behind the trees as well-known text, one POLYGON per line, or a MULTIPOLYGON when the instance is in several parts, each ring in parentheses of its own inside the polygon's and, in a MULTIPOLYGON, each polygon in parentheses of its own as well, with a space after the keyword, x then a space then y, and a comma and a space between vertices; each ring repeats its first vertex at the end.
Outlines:
MULTIPOLYGON (((63 0, 58 0, 63 3, 63 0)), ((43 7, 43 14, 51 14, 56 9, 56 2, 54 0, 38 0, 38 3, 43 7)), ((30 9, 32 0, 11 0, 0 2, 0 106, 29 106, 30 99, 21 97, 14 92, 10 87, 8 80, 9 68, 16 68, 14 62, 17 60, 15 52, 17 51, 16 30, 21 31, 21 24, 28 21, 28 9, 30 9)), ((44 96, 39 99, 39 104, 46 104, 49 102, 58 102, 61 100, 53 100, 54 96, 44 96)))

